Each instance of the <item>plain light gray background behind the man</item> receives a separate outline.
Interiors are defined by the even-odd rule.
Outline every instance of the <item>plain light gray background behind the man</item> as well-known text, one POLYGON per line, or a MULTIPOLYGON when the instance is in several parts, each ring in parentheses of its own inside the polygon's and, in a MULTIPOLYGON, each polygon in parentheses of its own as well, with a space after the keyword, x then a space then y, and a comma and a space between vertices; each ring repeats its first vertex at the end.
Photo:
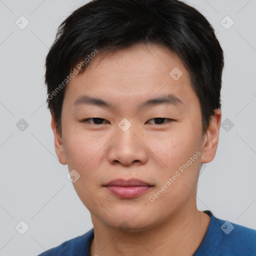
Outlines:
MULTIPOLYGON (((85 2, 0 0, 1 256, 37 255, 92 227, 57 160, 43 83, 57 26, 85 2)), ((256 229, 256 0, 186 2, 208 18, 225 55, 222 127, 216 156, 199 177, 198 209, 256 229)))

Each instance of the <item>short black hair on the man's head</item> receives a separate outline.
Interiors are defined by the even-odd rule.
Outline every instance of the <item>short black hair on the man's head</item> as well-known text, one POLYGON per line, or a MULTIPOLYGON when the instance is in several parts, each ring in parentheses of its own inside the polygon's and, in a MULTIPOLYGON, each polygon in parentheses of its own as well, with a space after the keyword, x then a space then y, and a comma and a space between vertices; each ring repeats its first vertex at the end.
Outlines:
POLYGON ((221 107, 224 65, 222 48, 207 19, 179 0, 92 0, 59 25, 45 60, 46 102, 59 134, 65 85, 74 70, 83 72, 98 51, 136 43, 157 43, 179 55, 200 102, 202 133, 207 131, 215 109, 221 107))

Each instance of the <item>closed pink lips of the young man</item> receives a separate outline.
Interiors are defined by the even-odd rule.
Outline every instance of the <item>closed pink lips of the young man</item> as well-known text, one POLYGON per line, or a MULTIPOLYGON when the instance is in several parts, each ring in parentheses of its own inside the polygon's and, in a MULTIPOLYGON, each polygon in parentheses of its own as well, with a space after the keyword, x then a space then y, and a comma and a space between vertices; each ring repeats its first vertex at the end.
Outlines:
POLYGON ((103 186, 112 194, 122 198, 139 196, 153 187, 153 185, 145 181, 134 178, 128 180, 113 179, 103 186))

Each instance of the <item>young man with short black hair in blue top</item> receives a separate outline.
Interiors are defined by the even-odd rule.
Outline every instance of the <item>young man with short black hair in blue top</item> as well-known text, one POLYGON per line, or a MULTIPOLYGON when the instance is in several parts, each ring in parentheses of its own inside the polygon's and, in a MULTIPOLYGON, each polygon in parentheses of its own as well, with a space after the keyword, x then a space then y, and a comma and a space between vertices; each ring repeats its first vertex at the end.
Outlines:
POLYGON ((40 255, 256 254, 256 230, 196 208, 218 144, 222 68, 213 28, 178 0, 94 0, 63 21, 47 102, 93 229, 40 255))

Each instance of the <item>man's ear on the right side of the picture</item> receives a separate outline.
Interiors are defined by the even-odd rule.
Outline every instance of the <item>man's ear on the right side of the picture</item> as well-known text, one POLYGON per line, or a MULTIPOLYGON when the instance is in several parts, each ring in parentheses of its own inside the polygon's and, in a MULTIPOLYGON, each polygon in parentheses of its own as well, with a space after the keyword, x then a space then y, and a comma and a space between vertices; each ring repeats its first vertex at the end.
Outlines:
POLYGON ((207 132, 203 138, 201 163, 210 162, 216 154, 220 124, 221 110, 218 108, 215 109, 215 114, 211 117, 207 132))

